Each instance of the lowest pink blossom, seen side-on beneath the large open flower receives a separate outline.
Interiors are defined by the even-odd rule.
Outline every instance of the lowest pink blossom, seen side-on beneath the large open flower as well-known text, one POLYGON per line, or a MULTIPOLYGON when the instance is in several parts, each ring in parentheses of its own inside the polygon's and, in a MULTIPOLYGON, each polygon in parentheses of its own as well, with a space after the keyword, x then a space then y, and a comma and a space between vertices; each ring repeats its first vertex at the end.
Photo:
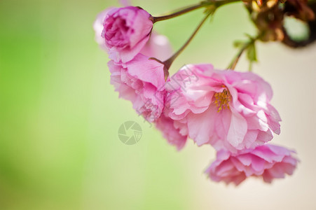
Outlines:
POLYGON ((217 160, 205 173, 213 181, 234 183, 236 186, 249 176, 261 177, 263 181, 271 183, 273 179, 284 178, 285 174, 293 174, 297 163, 294 151, 265 144, 238 154, 218 151, 217 160))

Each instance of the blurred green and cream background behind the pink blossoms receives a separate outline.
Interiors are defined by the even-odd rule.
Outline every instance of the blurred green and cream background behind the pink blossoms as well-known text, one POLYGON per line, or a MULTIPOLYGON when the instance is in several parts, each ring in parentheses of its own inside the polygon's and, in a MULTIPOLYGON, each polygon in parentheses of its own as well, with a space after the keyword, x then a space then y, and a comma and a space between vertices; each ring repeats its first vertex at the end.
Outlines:
MULTIPOLYGON (((134 0, 153 15, 195 0, 134 0)), ((235 188, 202 172, 215 158, 191 141, 183 151, 118 99, 107 55, 92 22, 108 0, 0 1, 0 209, 316 209, 316 45, 291 50, 259 43, 254 72, 274 90, 282 132, 273 142, 294 148, 301 163, 287 179, 249 179, 235 188), (133 146, 118 139, 128 120, 141 125, 133 146)), ((158 22, 178 49, 202 10, 158 22)), ((212 62, 225 68, 233 41, 255 33, 240 3, 217 11, 172 66, 212 62)), ((242 57, 238 71, 247 70, 242 57)))

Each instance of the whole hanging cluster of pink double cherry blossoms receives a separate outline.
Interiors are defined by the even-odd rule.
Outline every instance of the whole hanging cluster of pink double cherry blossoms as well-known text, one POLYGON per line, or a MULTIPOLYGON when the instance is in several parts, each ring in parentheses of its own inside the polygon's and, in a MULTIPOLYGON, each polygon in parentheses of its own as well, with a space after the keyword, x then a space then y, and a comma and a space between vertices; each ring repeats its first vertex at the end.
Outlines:
POLYGON ((267 144, 280 134, 281 121, 270 104, 270 85, 255 73, 212 64, 188 64, 169 76, 173 60, 206 18, 172 56, 167 38, 153 31, 155 22, 168 18, 134 6, 109 8, 97 16, 96 41, 109 53, 111 84, 119 96, 178 150, 188 139, 213 146, 217 159, 205 173, 214 181, 238 185, 261 176, 270 183, 292 174, 298 162, 294 151, 267 144))

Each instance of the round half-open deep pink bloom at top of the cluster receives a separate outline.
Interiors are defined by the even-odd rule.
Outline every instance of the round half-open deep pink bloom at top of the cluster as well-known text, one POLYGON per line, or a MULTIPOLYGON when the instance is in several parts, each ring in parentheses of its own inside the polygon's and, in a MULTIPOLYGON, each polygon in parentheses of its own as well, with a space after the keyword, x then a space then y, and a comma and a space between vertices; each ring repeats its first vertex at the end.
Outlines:
POLYGON ((113 8, 103 20, 102 38, 115 62, 129 62, 149 40, 153 21, 142 8, 113 8))

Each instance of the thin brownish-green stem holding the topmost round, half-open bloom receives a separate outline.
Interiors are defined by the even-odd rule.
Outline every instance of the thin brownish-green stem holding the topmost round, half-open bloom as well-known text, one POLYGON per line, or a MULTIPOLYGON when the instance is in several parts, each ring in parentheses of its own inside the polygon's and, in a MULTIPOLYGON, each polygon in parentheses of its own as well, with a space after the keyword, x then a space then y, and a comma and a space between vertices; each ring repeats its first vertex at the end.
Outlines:
POLYGON ((168 19, 171 19, 171 18, 175 18, 179 15, 183 15, 185 13, 189 13, 193 10, 196 10, 198 8, 203 8, 203 7, 207 7, 207 6, 215 6, 216 8, 219 8, 219 6, 222 6, 226 3, 233 3, 233 2, 236 2, 236 1, 241 1, 241 0, 206 0, 206 1, 202 1, 198 4, 195 4, 193 6, 189 6, 187 8, 184 8, 182 10, 179 10, 175 13, 172 13, 170 15, 163 15, 163 16, 159 16, 159 17, 152 17, 153 18, 153 23, 155 22, 158 22, 158 21, 161 21, 161 20, 168 20, 168 19))

